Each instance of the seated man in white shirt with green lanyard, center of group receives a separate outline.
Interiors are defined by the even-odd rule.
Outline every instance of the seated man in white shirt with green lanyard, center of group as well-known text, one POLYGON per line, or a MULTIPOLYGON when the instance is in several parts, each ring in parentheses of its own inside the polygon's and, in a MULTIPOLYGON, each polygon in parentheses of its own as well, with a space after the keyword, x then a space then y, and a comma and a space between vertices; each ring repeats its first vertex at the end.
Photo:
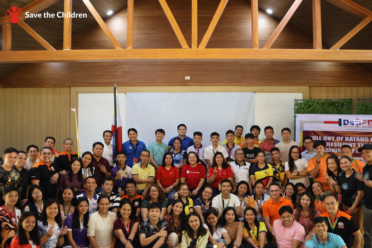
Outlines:
POLYGON ((231 194, 232 183, 228 179, 221 181, 221 194, 212 199, 212 207, 217 210, 218 217, 221 217, 225 207, 234 207, 238 217, 241 217, 240 201, 237 196, 231 194))

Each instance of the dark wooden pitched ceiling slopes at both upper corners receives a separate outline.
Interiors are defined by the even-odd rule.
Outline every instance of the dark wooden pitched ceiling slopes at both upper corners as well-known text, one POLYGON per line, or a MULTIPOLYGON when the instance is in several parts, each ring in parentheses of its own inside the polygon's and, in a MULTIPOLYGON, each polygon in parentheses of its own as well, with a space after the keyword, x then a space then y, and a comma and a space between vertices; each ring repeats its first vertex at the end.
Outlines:
MULTIPOLYGON (((126 0, 90 0, 94 8, 103 19, 108 18, 106 14, 109 10, 114 13, 127 6, 126 0)), ((216 0, 218 2, 219 0, 216 0)), ((244 0, 250 3, 250 0, 244 0)), ((355 3, 372 10, 371 0, 353 0, 355 3)), ((6 13, 6 10, 12 6, 24 7, 33 0, 2 0, 0 1, 0 16, 6 13)), ((258 0, 259 8, 263 11, 270 9, 273 13, 270 15, 277 20, 281 20, 291 7, 294 0, 258 0)), ((40 13, 49 12, 57 13, 63 11, 64 1, 58 1, 54 5, 42 10, 40 13)), ((228 4, 227 4, 228 7, 228 4)), ((249 6, 248 6, 249 7, 249 6)), ((73 1, 73 12, 87 13, 88 18, 76 18, 72 22, 72 36, 76 36, 96 25, 96 20, 90 14, 87 7, 82 1, 73 1)), ((199 10, 200 14, 200 10, 199 10)), ((356 16, 345 12, 344 10, 334 6, 327 1, 321 1, 322 15, 322 39, 323 46, 330 48, 339 41, 346 33, 353 29, 360 21, 356 16)), ((49 18, 28 18, 25 22, 31 26, 39 35, 49 42, 56 49, 62 49, 63 38, 63 19, 49 18), (47 22, 46 22, 47 21, 47 22)), ((217 24, 218 25, 218 24, 217 24)), ((312 1, 302 1, 295 14, 289 20, 288 26, 298 30, 299 32, 312 38, 312 1)), ((1 32, 0 32, 1 41, 1 32)), ((1 45, 0 45, 1 49, 1 45)), ((31 36, 18 25, 12 26, 12 50, 43 50, 44 48, 38 44, 31 36)), ((348 41, 341 49, 370 49, 372 50, 372 24, 369 23, 359 33, 357 33, 350 41, 348 41)), ((0 64, 0 81, 5 77, 15 72, 25 64, 0 64)), ((359 63, 363 68, 366 68, 372 73, 372 64, 359 63)))

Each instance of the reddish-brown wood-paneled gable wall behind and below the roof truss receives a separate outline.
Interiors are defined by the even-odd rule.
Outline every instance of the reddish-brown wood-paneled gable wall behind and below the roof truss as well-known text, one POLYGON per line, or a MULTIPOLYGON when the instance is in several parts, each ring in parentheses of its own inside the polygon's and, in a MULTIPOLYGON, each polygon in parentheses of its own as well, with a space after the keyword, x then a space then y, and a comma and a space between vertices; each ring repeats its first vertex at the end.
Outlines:
MULTIPOLYGON (((191 46, 191 1, 167 0, 191 46)), ((217 9, 218 0, 198 1, 200 42, 217 9)), ((207 48, 250 48, 251 10, 244 0, 230 0, 207 48)), ((105 22, 126 47, 126 9, 105 22)), ((260 48, 278 21, 259 12, 260 48)), ((134 49, 180 48, 157 0, 134 6, 134 49)), ((312 48, 312 40, 286 27, 272 48, 312 48)), ((61 49, 61 47, 59 48, 61 49)), ((72 49, 113 49, 98 25, 75 36, 72 49)), ((28 64, 9 75, 0 87, 111 86, 369 86, 372 74, 352 63, 255 61, 130 61, 28 64), (190 76, 191 80, 185 80, 190 76)))

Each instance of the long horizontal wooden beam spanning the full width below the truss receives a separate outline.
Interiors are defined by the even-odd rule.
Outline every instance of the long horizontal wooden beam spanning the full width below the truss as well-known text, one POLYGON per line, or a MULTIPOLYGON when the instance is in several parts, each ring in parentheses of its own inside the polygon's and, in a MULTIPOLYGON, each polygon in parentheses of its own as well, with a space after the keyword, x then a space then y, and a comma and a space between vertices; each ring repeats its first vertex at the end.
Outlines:
POLYGON ((1 51, 0 63, 99 62, 139 60, 317 61, 372 63, 372 50, 329 49, 102 49, 1 51))

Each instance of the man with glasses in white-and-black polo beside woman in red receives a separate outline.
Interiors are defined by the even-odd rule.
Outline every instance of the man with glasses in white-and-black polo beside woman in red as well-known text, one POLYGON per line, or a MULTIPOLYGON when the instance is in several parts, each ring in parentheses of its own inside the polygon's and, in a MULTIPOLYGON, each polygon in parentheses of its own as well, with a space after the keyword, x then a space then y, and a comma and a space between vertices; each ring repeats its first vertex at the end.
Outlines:
POLYGON ((239 148, 235 150, 235 161, 230 162, 232 170, 232 181, 234 185, 232 186, 232 192, 235 193, 237 190, 237 185, 240 181, 246 181, 249 184, 249 191, 252 190, 252 183, 249 180, 249 167, 250 163, 244 161, 243 149, 239 148))

